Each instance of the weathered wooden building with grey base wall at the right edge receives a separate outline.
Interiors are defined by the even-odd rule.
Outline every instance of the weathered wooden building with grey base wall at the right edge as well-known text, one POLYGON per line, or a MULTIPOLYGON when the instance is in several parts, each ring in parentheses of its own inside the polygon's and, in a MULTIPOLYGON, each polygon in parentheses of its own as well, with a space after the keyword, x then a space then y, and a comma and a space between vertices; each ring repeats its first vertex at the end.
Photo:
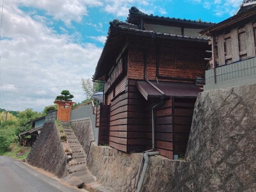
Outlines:
POLYGON ((212 45, 204 90, 256 83, 256 1, 243 1, 236 15, 200 33, 212 45))

